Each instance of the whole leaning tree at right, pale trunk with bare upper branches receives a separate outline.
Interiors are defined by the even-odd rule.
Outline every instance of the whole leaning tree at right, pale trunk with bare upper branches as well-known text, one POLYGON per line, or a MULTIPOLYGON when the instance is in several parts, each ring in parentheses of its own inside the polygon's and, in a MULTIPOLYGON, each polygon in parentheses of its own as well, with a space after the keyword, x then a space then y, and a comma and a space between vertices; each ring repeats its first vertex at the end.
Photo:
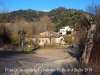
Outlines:
POLYGON ((86 15, 86 19, 90 24, 90 27, 87 32, 85 50, 83 52, 82 59, 81 59, 82 64, 85 65, 88 65, 89 63, 91 52, 94 47, 94 42, 96 39, 98 39, 98 35, 100 33, 98 31, 98 27, 100 27, 100 23, 98 21, 100 20, 98 18, 98 16, 100 16, 100 4, 92 3, 91 5, 88 5, 87 11, 90 13, 90 15, 86 15))

